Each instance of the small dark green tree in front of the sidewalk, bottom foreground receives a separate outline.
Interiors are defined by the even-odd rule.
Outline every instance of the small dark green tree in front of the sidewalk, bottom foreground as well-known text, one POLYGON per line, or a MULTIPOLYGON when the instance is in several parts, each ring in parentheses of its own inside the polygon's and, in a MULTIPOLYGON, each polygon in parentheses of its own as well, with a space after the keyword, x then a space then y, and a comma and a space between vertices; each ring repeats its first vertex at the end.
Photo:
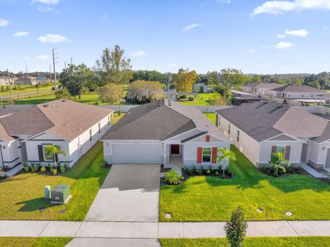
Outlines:
POLYGON ((244 211, 241 206, 238 206, 230 217, 230 222, 225 223, 225 235, 231 247, 241 247, 246 230, 248 230, 248 223, 244 221, 244 211))

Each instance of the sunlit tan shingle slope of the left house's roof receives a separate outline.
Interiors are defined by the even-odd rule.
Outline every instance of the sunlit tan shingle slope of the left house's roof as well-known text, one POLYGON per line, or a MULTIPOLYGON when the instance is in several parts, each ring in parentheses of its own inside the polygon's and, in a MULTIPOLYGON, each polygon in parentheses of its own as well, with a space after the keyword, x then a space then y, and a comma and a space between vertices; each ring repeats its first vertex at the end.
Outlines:
POLYGON ((72 100, 54 100, 37 107, 54 124, 47 132, 65 140, 73 140, 113 112, 112 109, 76 103, 72 100))

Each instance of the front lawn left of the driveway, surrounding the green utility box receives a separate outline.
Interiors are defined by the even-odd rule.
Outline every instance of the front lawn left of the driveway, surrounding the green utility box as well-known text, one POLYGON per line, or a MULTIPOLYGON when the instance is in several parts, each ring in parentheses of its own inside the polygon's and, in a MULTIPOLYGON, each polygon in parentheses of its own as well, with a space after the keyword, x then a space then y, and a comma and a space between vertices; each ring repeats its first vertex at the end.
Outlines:
POLYGON ((63 175, 21 173, 0 182, 0 219, 74 220, 85 218, 109 169, 102 167, 103 149, 98 142, 74 167, 63 175), (44 186, 69 184, 72 200, 66 205, 54 206, 45 201, 44 186), (45 211, 39 208, 45 206, 45 211), (66 209, 65 213, 60 213, 66 209))

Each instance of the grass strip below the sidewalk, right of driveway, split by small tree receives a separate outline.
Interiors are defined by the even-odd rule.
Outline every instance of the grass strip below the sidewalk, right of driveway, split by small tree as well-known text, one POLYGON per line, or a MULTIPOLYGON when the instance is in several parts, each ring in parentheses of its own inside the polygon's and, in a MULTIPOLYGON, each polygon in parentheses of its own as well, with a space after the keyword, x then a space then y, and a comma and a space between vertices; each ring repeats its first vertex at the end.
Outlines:
MULTIPOLYGON (((227 239, 159 239, 163 247, 230 247, 227 239)), ((326 247, 330 237, 247 237, 243 247, 326 247)))

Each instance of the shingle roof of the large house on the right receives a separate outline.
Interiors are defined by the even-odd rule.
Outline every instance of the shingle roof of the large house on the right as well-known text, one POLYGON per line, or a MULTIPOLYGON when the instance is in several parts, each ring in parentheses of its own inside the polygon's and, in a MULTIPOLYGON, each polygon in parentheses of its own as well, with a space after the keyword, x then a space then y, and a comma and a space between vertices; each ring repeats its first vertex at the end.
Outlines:
POLYGON ((322 135, 327 126, 327 120, 318 116, 270 102, 242 104, 216 112, 258 142, 280 133, 312 138, 322 135))

